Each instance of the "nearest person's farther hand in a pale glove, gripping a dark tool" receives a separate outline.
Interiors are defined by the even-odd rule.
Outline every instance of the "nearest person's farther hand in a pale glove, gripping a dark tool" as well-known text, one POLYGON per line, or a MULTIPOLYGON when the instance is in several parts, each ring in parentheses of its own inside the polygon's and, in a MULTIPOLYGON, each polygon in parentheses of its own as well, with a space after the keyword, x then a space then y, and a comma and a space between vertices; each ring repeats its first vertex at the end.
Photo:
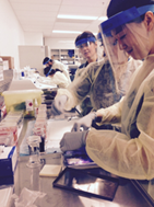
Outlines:
POLYGON ((95 119, 96 113, 91 112, 86 116, 80 118, 76 120, 71 129, 71 131, 80 131, 81 127, 83 127, 84 130, 87 130, 92 126, 93 119, 95 119))

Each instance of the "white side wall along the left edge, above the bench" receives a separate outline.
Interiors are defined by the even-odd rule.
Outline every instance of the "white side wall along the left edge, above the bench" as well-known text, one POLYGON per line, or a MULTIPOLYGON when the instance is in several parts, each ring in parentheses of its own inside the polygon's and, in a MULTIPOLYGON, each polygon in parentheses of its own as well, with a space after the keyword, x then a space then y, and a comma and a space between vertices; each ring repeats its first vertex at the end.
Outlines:
POLYGON ((14 57, 19 68, 19 45, 24 44, 24 32, 8 0, 0 0, 0 56, 14 57))

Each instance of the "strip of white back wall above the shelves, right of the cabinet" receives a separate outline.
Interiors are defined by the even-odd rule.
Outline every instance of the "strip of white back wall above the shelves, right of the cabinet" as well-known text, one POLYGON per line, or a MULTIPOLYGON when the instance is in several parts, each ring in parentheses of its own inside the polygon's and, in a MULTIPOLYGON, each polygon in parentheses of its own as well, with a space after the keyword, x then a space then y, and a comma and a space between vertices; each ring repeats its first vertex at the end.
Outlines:
POLYGON ((75 49, 74 38, 45 38, 45 45, 50 49, 75 49))

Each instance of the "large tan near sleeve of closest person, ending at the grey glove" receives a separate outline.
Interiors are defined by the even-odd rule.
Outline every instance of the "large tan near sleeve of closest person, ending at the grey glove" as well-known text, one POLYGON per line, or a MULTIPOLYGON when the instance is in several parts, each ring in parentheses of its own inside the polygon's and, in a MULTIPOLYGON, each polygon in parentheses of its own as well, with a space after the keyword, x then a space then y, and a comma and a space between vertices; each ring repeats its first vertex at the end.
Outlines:
POLYGON ((154 177, 154 78, 142 92, 144 100, 135 119, 139 136, 130 137, 130 123, 126 124, 126 134, 92 128, 86 151, 106 171, 127 179, 151 180, 154 177))

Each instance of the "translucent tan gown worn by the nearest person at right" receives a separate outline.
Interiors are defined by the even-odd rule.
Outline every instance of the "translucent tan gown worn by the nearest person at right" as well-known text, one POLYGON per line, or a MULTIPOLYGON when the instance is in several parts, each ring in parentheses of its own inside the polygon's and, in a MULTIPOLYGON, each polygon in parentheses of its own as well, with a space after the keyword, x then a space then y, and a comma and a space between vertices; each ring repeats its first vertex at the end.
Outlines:
POLYGON ((121 133, 92 128, 86 151, 103 169, 138 180, 154 177, 154 55, 134 72, 121 102, 99 110, 102 124, 121 120, 121 133))

